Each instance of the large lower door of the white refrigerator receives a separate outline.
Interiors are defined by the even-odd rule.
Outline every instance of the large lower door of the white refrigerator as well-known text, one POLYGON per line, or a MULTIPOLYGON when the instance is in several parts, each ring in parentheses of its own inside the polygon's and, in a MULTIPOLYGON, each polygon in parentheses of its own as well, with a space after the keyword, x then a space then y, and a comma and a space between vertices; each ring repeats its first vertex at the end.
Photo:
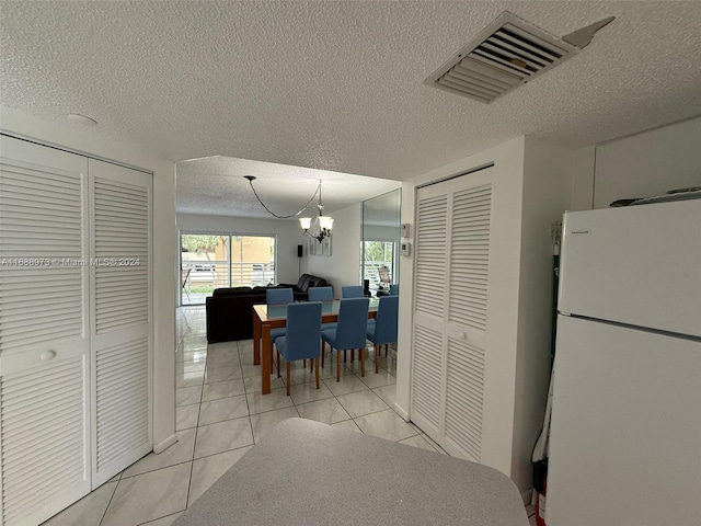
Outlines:
POLYGON ((701 524, 701 342, 559 318, 548 525, 701 524))

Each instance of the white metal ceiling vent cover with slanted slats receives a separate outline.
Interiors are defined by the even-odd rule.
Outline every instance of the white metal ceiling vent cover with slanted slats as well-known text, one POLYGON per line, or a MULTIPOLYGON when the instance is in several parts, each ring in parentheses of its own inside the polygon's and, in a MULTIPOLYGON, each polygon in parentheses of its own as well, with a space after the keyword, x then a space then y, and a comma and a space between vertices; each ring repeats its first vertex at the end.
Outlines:
POLYGON ((504 12, 424 83, 490 103, 578 50, 504 12))

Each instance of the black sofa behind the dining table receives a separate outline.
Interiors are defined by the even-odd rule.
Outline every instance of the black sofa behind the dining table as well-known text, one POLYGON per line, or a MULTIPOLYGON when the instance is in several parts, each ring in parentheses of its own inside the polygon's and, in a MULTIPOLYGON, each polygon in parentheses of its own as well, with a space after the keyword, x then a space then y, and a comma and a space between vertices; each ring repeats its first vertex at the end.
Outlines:
MULTIPOLYGON (((304 279, 306 288, 296 288, 297 285, 279 284, 276 287, 292 288, 296 300, 304 300, 310 286, 325 286, 326 281, 309 276, 304 279), (311 283, 323 285, 311 285, 311 283)), ((299 278, 299 283, 302 282, 299 278)), ((302 284, 303 285, 303 284, 302 284)), ((265 304, 265 290, 271 287, 233 287, 217 288, 206 299, 207 310, 207 342, 230 342, 233 340, 250 340, 253 338, 253 306, 265 304)))

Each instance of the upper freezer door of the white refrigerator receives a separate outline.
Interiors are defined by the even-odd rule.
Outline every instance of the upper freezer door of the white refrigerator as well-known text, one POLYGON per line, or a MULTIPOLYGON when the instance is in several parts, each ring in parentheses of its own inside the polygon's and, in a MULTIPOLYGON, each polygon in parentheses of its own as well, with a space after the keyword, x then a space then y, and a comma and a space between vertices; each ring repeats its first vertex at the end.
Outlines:
POLYGON ((566 213, 558 308, 701 335, 701 199, 566 213))

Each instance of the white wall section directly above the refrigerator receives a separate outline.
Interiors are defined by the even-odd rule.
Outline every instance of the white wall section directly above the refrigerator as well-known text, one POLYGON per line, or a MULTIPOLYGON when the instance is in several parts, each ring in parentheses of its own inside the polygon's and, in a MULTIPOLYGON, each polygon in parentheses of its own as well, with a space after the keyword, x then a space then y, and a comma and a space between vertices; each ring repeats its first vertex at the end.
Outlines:
POLYGON ((701 186, 701 117, 596 148, 594 208, 701 186))

